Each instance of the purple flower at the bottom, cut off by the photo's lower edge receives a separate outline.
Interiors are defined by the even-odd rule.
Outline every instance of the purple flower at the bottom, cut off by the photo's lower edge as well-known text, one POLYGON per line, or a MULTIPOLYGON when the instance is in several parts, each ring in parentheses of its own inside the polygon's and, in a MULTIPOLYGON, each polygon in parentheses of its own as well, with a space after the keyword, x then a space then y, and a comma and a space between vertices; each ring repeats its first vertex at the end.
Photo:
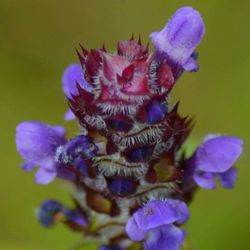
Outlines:
POLYGON ((146 250, 178 250, 185 233, 174 223, 189 218, 186 204, 179 200, 154 200, 138 209, 129 219, 126 232, 131 240, 143 241, 146 250))

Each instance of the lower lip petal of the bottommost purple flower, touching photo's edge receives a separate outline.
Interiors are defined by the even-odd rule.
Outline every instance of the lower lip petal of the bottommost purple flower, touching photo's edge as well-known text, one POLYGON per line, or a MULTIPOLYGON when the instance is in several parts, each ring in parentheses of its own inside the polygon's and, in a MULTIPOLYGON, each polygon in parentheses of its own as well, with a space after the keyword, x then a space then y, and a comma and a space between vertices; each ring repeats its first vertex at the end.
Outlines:
POLYGON ((185 233, 170 224, 151 229, 144 242, 145 250, 179 250, 184 242, 185 233))

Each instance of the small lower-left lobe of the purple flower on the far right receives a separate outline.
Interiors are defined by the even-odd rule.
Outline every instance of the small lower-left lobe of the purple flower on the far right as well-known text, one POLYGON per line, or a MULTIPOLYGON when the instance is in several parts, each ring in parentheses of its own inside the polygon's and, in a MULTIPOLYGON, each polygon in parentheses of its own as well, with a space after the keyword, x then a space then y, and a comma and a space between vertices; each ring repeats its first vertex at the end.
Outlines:
POLYGON ((198 186, 205 188, 205 189, 215 189, 216 182, 215 182, 215 174, 196 171, 194 174, 194 180, 198 186))

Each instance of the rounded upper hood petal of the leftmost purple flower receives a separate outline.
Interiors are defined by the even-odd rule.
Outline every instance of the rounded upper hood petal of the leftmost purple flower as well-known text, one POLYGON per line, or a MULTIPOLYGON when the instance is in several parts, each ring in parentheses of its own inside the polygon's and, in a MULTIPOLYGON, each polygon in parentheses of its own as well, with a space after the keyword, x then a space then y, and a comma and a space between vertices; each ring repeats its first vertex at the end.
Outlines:
POLYGON ((55 154, 56 148, 65 143, 64 135, 59 135, 58 126, 41 122, 23 122, 16 128, 16 146, 26 160, 39 163, 55 154))

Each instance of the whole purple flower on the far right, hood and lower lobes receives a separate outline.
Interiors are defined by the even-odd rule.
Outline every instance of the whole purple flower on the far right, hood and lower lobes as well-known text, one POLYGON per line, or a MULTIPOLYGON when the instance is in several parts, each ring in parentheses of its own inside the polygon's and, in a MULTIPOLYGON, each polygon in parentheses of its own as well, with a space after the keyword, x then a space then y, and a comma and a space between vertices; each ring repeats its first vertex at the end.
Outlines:
POLYGON ((242 152, 242 144, 241 139, 233 136, 206 137, 188 163, 197 185, 214 189, 217 176, 223 187, 234 187, 237 170, 233 165, 242 152))

